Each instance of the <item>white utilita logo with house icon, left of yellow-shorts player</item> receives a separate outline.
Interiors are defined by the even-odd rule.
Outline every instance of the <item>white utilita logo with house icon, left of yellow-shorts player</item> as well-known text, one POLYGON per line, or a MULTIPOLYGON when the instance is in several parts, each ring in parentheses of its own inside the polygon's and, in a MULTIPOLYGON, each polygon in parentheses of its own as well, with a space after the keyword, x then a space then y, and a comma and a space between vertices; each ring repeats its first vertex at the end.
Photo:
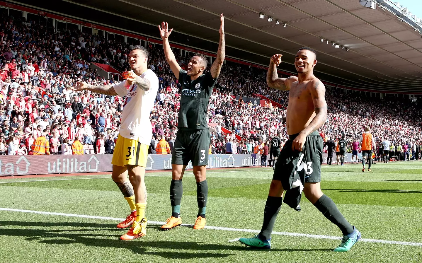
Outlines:
POLYGON ((47 171, 49 173, 97 172, 98 164, 100 162, 95 156, 91 156, 88 161, 78 161, 78 158, 57 158, 57 161, 47 163, 47 171))

